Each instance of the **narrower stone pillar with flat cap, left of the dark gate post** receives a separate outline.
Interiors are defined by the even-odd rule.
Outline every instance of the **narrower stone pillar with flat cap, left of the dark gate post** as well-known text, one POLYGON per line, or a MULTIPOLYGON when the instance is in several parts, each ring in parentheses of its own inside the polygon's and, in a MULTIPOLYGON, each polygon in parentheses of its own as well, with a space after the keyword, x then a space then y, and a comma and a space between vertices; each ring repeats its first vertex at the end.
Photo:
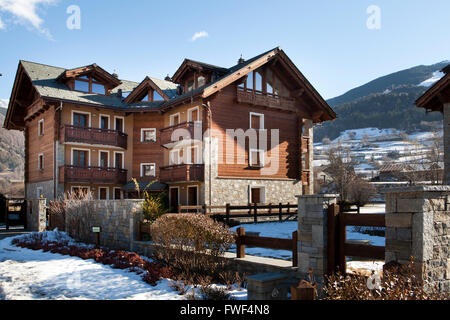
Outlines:
POLYGON ((319 285, 327 272, 328 205, 338 195, 304 195, 298 198, 298 272, 304 278, 312 268, 319 285))

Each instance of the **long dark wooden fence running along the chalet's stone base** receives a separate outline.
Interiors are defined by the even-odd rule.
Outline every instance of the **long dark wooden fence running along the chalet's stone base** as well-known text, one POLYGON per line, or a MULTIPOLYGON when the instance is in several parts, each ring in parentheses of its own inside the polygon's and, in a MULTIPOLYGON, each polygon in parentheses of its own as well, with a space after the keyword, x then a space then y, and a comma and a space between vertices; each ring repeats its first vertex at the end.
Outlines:
POLYGON ((280 221, 283 217, 293 216, 297 214, 297 204, 261 204, 253 203, 247 205, 230 205, 227 203, 225 206, 178 206, 178 213, 194 212, 207 214, 211 218, 219 221, 225 221, 230 223, 232 218, 253 218, 253 221, 258 222, 258 218, 261 217, 278 217, 280 221))

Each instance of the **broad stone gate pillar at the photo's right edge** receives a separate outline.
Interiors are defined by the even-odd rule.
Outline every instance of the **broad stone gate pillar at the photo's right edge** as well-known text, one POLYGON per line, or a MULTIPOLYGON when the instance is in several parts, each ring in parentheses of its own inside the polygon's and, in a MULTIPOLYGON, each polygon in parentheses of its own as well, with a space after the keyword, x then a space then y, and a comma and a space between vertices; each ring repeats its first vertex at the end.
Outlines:
POLYGON ((386 194, 386 263, 409 264, 450 291, 450 186, 415 186, 386 194))

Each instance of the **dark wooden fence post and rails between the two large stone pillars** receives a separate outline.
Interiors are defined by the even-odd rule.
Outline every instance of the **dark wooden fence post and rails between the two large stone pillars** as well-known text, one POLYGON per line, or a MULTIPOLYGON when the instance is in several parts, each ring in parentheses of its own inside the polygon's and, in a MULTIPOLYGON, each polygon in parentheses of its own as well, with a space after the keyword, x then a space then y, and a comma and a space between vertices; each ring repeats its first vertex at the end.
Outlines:
POLYGON ((328 273, 345 272, 347 257, 384 260, 384 246, 348 243, 347 226, 385 227, 385 215, 343 212, 336 204, 328 207, 328 273))

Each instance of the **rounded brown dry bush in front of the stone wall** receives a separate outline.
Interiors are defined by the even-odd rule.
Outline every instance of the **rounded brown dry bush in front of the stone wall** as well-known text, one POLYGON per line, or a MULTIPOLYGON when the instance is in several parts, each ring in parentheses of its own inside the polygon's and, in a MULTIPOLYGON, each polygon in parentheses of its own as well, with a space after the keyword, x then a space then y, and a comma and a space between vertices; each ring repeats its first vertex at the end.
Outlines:
POLYGON ((226 227, 200 214, 166 214, 152 224, 151 234, 155 258, 191 283, 218 279, 226 269, 222 256, 234 243, 226 227))

